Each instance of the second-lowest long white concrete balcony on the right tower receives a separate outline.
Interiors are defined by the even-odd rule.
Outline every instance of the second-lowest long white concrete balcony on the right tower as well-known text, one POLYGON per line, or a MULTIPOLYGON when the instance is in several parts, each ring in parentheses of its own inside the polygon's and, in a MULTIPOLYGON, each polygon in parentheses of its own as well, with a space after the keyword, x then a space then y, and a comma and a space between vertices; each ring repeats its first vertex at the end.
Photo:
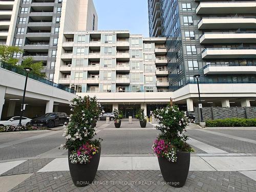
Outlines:
POLYGON ((205 49, 202 52, 203 59, 224 59, 224 58, 255 58, 256 48, 254 49, 205 49))

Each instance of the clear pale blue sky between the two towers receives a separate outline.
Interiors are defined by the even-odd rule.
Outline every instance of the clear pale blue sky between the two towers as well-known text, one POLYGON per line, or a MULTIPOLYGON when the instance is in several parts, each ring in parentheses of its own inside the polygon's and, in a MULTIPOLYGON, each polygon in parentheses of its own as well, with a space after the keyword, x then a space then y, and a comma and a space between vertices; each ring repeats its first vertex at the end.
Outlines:
POLYGON ((98 30, 130 30, 148 37, 147 0, 93 0, 98 30))

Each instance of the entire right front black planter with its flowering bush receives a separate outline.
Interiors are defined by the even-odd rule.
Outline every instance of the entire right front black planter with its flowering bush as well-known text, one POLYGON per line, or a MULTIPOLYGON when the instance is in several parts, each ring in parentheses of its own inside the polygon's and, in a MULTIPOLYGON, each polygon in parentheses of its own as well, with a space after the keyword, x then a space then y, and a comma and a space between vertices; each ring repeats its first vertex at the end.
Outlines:
POLYGON ((167 106, 153 112, 160 131, 152 149, 158 157, 163 179, 171 186, 182 187, 187 179, 190 152, 193 148, 186 143, 184 135, 189 119, 178 106, 167 106))

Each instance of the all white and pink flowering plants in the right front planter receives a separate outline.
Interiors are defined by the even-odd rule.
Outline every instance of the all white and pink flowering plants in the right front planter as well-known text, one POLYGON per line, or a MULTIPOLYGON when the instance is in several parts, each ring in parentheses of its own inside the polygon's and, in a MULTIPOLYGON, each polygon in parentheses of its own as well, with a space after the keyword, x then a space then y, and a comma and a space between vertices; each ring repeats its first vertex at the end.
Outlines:
POLYGON ((158 122, 156 129, 160 131, 152 146, 153 152, 158 157, 176 162, 178 151, 194 152, 193 148, 186 143, 188 137, 184 135, 189 123, 186 112, 180 111, 176 105, 168 105, 166 108, 155 110, 152 115, 158 122))

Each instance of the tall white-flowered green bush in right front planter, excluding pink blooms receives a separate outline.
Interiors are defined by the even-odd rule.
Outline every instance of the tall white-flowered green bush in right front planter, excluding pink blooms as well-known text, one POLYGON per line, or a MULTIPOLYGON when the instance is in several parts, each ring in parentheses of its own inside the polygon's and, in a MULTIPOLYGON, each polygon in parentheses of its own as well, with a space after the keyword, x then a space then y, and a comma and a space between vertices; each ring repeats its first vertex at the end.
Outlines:
POLYGON ((168 105, 166 108, 155 110, 153 115, 158 121, 156 128, 161 132, 158 139, 170 143, 177 151, 194 152, 193 148, 186 143, 188 137, 184 135, 189 123, 186 113, 180 111, 176 105, 168 105))

